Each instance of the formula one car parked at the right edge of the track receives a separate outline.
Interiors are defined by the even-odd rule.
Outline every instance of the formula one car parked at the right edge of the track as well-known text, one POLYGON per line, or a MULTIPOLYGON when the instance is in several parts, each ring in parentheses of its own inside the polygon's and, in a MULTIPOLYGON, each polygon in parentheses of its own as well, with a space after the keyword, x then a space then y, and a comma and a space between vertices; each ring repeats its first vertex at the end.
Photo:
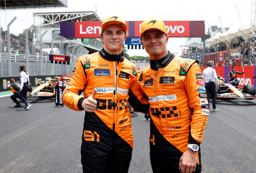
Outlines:
MULTIPOLYGON (((236 88, 230 83, 226 83, 227 79, 223 79, 219 77, 219 87, 216 88, 217 90, 217 99, 220 98, 229 98, 229 99, 255 99, 256 96, 256 89, 254 85, 247 84, 243 87, 238 86, 236 88)), ((239 83, 239 80, 233 81, 233 83, 239 83)))

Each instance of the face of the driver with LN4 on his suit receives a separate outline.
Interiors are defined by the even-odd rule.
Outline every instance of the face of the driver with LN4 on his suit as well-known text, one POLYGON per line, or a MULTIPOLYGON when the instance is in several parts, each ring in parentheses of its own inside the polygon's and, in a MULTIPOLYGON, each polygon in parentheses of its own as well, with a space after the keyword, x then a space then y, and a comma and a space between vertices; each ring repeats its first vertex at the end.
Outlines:
POLYGON ((167 55, 166 44, 169 36, 160 30, 149 30, 142 35, 141 44, 146 49, 152 60, 163 58, 167 55))

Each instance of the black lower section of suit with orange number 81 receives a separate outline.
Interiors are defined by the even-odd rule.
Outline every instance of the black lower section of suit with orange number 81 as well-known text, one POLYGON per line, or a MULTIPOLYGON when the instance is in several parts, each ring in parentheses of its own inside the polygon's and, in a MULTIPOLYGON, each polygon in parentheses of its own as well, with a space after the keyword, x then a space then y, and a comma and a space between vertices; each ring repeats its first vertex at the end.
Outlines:
POLYGON ((81 163, 83 173, 127 173, 133 148, 100 118, 86 112, 82 136, 81 163), (93 115, 93 116, 91 116, 93 115), (98 137, 98 139, 97 139, 98 137))

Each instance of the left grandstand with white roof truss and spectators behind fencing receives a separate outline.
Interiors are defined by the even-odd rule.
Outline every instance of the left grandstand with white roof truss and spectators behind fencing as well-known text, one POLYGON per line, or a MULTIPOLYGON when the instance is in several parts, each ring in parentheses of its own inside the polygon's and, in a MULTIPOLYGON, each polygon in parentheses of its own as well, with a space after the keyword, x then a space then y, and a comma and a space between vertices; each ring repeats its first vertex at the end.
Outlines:
POLYGON ((60 36, 60 22, 100 21, 95 12, 34 13, 33 16, 43 22, 35 24, 35 36, 27 40, 28 51, 26 51, 26 38, 12 33, 8 36, 6 34, 8 31, 1 30, 2 77, 19 76, 18 67, 21 64, 25 65, 30 76, 70 74, 79 56, 97 52, 102 48, 99 38, 67 39, 60 36), (8 40, 10 40, 10 55, 8 40), (59 52, 55 52, 56 49, 59 52), (70 64, 52 64, 49 61, 49 54, 52 53, 70 56, 70 64))

